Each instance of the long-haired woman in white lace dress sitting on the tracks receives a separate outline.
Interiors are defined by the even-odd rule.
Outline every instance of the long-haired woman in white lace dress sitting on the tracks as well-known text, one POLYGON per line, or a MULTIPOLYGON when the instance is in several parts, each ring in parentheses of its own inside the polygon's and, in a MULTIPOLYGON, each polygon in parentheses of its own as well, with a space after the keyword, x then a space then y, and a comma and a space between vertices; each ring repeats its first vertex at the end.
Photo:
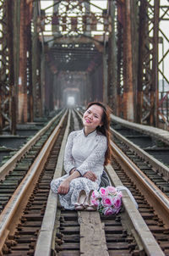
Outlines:
POLYGON ((74 209, 80 191, 89 194, 101 183, 104 165, 111 158, 110 111, 103 103, 89 103, 83 115, 84 128, 68 136, 64 155, 66 175, 53 180, 53 192, 59 194, 65 209, 74 209))

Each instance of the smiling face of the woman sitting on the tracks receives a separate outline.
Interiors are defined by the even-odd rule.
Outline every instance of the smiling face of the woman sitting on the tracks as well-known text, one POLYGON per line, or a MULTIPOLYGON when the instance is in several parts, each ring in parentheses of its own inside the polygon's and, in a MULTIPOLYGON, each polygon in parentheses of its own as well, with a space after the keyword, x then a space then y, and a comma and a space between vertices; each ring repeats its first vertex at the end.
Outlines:
POLYGON ((101 116, 103 109, 98 105, 91 105, 89 109, 85 111, 83 116, 83 124, 90 130, 95 130, 98 125, 102 125, 101 116))

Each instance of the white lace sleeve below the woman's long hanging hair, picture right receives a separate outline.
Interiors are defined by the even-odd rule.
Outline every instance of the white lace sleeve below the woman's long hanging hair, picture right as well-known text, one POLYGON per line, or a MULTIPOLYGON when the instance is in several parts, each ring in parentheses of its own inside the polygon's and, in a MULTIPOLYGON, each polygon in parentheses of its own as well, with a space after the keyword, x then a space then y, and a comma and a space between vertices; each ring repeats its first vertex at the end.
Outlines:
POLYGON ((93 150, 93 152, 90 154, 90 156, 85 159, 83 164, 78 166, 76 169, 79 170, 79 173, 81 175, 85 175, 85 172, 92 169, 95 164, 105 156, 107 148, 107 140, 106 136, 99 136, 98 144, 93 150))

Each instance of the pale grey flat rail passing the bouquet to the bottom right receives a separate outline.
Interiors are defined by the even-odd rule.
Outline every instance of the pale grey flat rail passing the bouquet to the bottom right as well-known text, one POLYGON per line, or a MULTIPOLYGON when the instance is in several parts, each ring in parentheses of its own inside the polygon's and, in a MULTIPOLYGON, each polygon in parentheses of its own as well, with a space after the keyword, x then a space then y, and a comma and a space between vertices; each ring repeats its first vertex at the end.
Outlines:
MULTIPOLYGON (((123 186, 111 164, 106 165, 106 171, 114 186, 123 186)), ((123 190, 123 206, 125 209, 125 219, 129 220, 128 229, 132 231, 139 251, 144 250, 149 256, 164 256, 165 254, 162 252, 155 237, 145 224, 141 214, 139 214, 139 210, 136 209, 134 202, 126 190, 123 190)))

